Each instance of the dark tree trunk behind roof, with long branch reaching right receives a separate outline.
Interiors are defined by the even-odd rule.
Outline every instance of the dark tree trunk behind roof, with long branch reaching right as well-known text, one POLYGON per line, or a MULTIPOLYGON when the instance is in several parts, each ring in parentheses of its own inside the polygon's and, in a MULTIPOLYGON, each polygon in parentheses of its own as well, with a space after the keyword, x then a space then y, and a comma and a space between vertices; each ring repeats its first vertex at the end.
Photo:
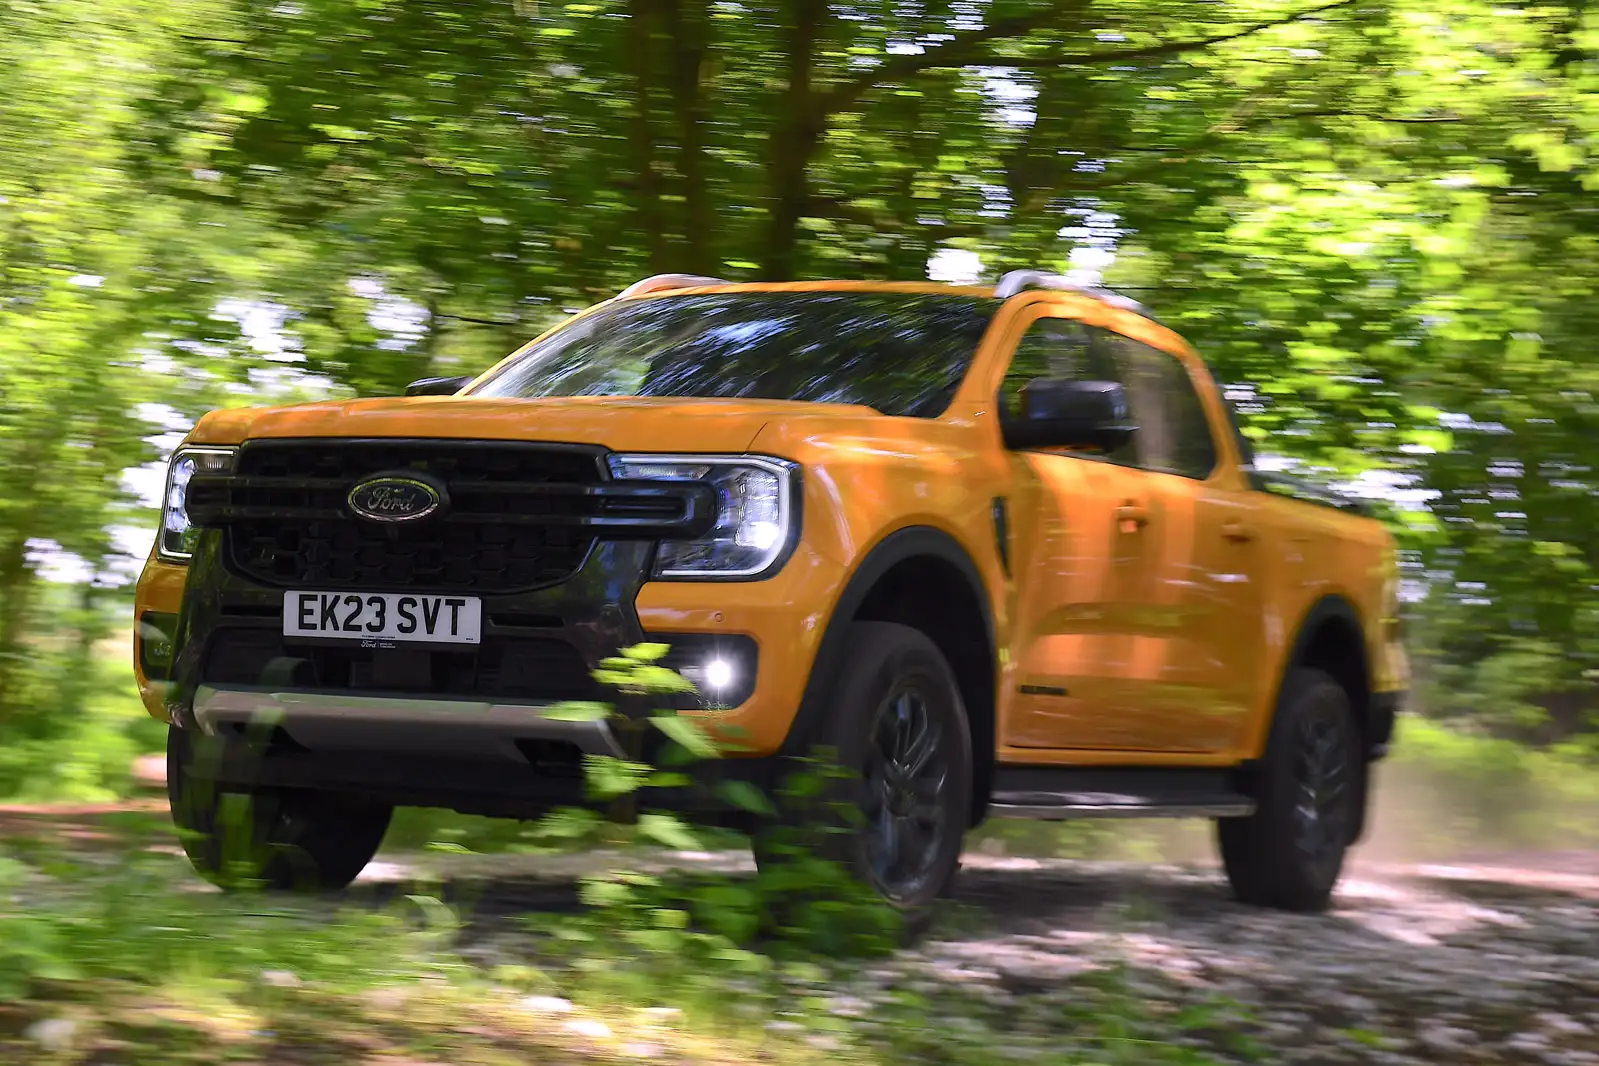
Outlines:
POLYGON ((788 85, 779 102, 768 160, 769 221, 761 275, 769 281, 793 278, 800 265, 800 219, 811 200, 807 171, 825 128, 812 85, 815 50, 825 19, 825 0, 793 0, 788 85))

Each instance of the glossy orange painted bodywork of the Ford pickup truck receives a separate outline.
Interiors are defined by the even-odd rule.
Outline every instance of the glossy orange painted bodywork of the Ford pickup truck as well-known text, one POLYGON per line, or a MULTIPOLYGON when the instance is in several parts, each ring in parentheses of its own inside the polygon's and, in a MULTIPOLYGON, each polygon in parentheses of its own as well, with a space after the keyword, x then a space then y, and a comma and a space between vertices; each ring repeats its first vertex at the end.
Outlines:
MULTIPOLYGON (((715 286, 737 289, 991 292, 932 283, 715 286)), ((632 299, 691 291, 710 289, 632 299)), ((1252 491, 1231 433, 1222 432, 1228 416, 1202 361, 1172 331, 1091 297, 1028 291, 1009 299, 940 419, 753 400, 478 400, 472 388, 456 396, 221 411, 201 419, 189 440, 576 441, 803 463, 803 531, 782 571, 745 583, 651 582, 635 603, 646 631, 756 639, 755 694, 713 716, 750 753, 771 753, 787 735, 849 575, 878 542, 913 526, 953 537, 987 583, 1003 762, 1220 766, 1258 756, 1298 623, 1329 593, 1346 598, 1367 620, 1374 689, 1407 682, 1402 649, 1386 625, 1396 611, 1396 574, 1382 526, 1252 491), (999 384, 1017 340, 1046 316, 1078 318, 1182 360, 1215 430, 1212 475, 1196 481, 1081 455, 1007 451, 995 411, 999 384), (996 495, 1011 500, 1011 577, 993 539, 996 495), (1127 503, 1143 516, 1142 526, 1124 521, 1118 508, 1127 503), (1223 526, 1249 539, 1230 539, 1223 526), (1070 695, 1022 695, 1023 684, 1065 687, 1070 695)), ((152 558, 139 582, 139 611, 176 611, 182 580, 182 567, 152 558)), ((150 711, 165 716, 160 694, 139 681, 150 711)))

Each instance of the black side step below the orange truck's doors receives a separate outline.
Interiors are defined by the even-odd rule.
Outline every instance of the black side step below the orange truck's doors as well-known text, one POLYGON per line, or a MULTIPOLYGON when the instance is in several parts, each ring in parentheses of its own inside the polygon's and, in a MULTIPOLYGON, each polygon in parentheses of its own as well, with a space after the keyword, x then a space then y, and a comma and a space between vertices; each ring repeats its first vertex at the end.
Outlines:
POLYGON ((1242 818, 1255 801, 1225 770, 999 767, 995 818, 1242 818))

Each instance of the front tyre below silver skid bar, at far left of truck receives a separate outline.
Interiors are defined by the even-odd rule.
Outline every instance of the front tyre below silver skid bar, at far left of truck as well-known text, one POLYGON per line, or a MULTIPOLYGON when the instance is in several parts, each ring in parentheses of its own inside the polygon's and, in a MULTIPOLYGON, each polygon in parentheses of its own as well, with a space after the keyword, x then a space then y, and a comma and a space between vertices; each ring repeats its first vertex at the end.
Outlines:
MULTIPOLYGON (((225 889, 344 889, 377 853, 393 807, 365 796, 224 785, 190 730, 166 734, 166 796, 195 871, 225 889)), ((206 753, 209 754, 209 753, 206 753)))

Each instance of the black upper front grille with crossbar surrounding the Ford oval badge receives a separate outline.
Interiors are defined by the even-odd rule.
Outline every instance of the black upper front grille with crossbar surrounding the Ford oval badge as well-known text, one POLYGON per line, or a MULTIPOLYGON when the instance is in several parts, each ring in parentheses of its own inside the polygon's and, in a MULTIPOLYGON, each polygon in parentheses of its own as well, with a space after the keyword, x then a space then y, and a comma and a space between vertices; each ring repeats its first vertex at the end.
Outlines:
POLYGON ((499 441, 251 441, 232 475, 189 486, 198 526, 221 526, 227 566, 304 588, 513 593, 571 577, 596 537, 699 535, 710 487, 611 481, 598 447, 499 441), (425 473, 448 507, 416 523, 350 513, 350 489, 425 473))

